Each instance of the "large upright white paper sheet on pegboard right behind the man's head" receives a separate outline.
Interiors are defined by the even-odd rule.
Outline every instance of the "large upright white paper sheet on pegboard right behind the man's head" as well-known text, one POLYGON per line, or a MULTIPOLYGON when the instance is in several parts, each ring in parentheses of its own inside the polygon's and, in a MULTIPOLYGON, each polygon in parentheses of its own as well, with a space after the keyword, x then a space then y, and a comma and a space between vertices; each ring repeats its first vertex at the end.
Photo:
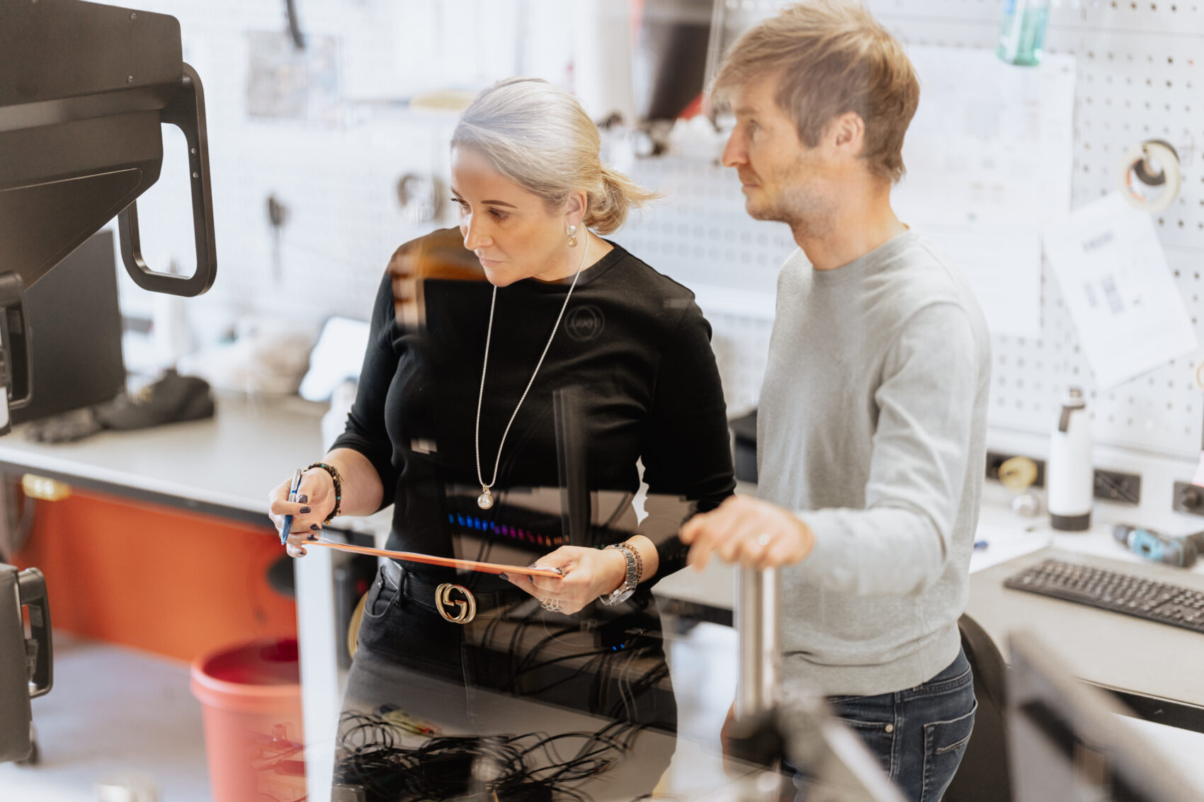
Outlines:
POLYGON ((1074 57, 913 46, 920 107, 891 201, 964 271, 991 331, 1040 336, 1040 232, 1070 210, 1074 57))

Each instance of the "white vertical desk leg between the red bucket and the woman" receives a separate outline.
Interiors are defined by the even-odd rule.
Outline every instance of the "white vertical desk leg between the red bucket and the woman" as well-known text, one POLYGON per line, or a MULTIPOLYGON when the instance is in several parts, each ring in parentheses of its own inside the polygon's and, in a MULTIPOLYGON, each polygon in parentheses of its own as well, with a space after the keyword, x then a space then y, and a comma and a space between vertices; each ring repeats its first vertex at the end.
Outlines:
POLYGON ((332 549, 312 548, 305 558, 294 560, 306 789, 311 802, 330 800, 341 706, 338 661, 335 656, 332 554, 332 549))

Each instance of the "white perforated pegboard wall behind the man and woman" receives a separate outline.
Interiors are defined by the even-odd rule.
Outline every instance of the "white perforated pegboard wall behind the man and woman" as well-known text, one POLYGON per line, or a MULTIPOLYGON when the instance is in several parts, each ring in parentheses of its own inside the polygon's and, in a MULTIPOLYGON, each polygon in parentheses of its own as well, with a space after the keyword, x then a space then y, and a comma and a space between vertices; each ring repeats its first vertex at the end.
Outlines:
MULTIPOLYGON (((338 40, 342 79, 359 85, 367 73, 397 67, 390 31, 399 14, 435 1, 302 4, 302 24, 311 35, 338 40)), ((456 13, 467 13, 478 1, 454 0, 453 5, 460 10, 456 13)), ((781 5, 772 0, 722 2, 732 25, 725 42, 740 26, 781 5)), ((402 217, 395 183, 411 170, 445 175, 447 137, 454 120, 397 113, 315 126, 248 118, 247 34, 283 31, 282 4, 147 0, 140 5, 179 18, 185 59, 202 76, 209 101, 220 278, 209 296, 190 303, 291 311, 314 319, 330 313, 365 314, 393 249, 431 228, 414 226, 402 217), (282 237, 283 282, 271 275, 272 235, 264 211, 268 193, 293 211, 282 237)), ((527 0, 514 7, 550 19, 557 6, 551 0, 527 0)), ((870 8, 909 46, 990 48, 997 37, 997 0, 872 0, 870 8)), ((1050 20, 1049 49, 1073 54, 1078 70, 1074 160, 1068 165, 1074 205, 1109 191, 1120 154, 1137 142, 1165 138, 1180 151, 1186 173, 1182 193, 1156 222, 1175 281, 1204 340, 1202 0, 1063 1, 1055 5, 1050 20)), ((160 252, 171 250, 189 266, 187 191, 167 191, 169 178, 184 171, 179 155, 171 151, 165 155, 165 181, 140 204, 140 216, 148 254, 157 253, 158 237, 160 252)), ((638 161, 631 173, 665 197, 637 214, 616 235, 618 241, 698 291, 714 326, 728 407, 752 406, 763 372, 777 273, 795 247, 789 230, 749 219, 738 182, 713 163, 649 159, 638 161)), ((993 337, 993 427, 1046 432, 1061 391, 1076 382, 1091 400, 1099 442, 1170 456, 1197 452, 1204 408, 1194 384, 1198 356, 1098 393, 1047 271, 1040 312, 1039 337, 993 337)))

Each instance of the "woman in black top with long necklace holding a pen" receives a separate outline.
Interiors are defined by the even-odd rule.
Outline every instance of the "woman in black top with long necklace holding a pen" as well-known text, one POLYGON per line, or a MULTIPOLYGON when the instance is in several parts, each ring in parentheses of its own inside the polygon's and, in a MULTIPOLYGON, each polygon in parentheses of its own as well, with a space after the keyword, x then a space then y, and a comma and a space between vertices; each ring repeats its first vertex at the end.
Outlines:
MULTIPOLYGON (((547 82, 503 81, 473 101, 452 140, 454 247, 436 232, 394 255, 346 434, 306 471, 296 502, 288 482, 271 494, 277 526, 293 515, 293 556, 337 493, 338 514, 394 505, 389 549, 560 571, 500 578, 390 561, 365 600, 348 709, 401 692, 383 704, 407 720, 437 709, 448 731, 482 731, 494 726, 478 694, 489 689, 673 730, 672 694, 650 690, 663 691, 666 672, 649 588, 684 565, 684 518, 718 506, 734 480, 709 325, 689 290, 598 236, 650 197, 598 149, 580 105, 547 82), (430 277, 449 264, 486 281, 430 277), (681 500, 638 531, 637 461, 650 499, 681 500), (573 465, 582 478, 562 480, 573 465), (588 523, 578 494, 566 515, 577 523, 560 526, 566 483, 591 491, 588 523), (476 619, 453 620, 467 596, 476 619), (598 656, 628 647, 639 660, 626 673, 598 656), (442 685, 417 692, 427 679, 442 685), (456 688, 478 695, 460 703, 456 688)), ((645 767, 644 780, 659 773, 645 767)))

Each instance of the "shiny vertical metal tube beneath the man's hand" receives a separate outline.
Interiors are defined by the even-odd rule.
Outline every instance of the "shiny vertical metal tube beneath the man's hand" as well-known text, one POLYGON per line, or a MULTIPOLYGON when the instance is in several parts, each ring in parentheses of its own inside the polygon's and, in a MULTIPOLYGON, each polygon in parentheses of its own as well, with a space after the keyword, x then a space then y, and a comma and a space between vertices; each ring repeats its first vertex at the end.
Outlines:
POLYGON ((778 570, 740 567, 736 574, 736 631, 739 657, 736 718, 769 710, 778 701, 781 670, 778 570))

